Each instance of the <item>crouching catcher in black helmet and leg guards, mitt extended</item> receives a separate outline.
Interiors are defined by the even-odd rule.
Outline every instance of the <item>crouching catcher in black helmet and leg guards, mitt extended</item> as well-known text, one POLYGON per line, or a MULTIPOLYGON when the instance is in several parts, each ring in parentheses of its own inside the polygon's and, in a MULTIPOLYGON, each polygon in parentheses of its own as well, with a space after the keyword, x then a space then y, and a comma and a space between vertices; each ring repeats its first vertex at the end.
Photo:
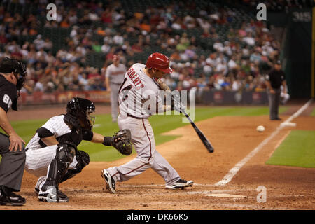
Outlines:
POLYGON ((69 202, 59 190, 59 183, 80 173, 90 162, 85 151, 78 150, 82 140, 114 146, 130 155, 130 130, 120 130, 113 137, 92 132, 95 111, 93 102, 74 97, 66 106, 66 114, 50 118, 36 130, 26 149, 25 170, 35 176, 38 199, 44 202, 69 202))

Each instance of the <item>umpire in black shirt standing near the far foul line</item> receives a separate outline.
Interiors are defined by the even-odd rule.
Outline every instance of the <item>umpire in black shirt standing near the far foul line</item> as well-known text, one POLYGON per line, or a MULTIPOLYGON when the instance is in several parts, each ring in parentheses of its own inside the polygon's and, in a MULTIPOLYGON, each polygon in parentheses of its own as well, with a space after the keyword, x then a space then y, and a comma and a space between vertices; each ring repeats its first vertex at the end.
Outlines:
POLYGON ((281 69, 281 61, 276 61, 274 69, 266 76, 266 85, 269 99, 269 118, 270 120, 281 120, 279 118, 281 85, 283 86, 283 94, 286 93, 286 75, 281 69))

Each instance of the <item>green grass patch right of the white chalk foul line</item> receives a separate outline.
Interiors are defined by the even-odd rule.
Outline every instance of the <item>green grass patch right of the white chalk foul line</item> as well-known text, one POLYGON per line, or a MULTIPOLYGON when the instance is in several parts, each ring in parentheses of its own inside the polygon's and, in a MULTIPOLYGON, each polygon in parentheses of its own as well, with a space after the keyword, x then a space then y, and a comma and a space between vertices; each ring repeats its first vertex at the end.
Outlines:
POLYGON ((315 168, 315 131, 290 132, 266 164, 315 168))

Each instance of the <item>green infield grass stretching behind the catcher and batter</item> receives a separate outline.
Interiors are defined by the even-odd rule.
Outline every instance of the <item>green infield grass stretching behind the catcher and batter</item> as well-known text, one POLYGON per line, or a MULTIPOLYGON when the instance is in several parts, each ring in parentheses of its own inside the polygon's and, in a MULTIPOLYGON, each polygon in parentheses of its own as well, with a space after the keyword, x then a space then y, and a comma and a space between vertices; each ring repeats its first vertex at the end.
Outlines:
MULTIPOLYGON (((287 107, 280 107, 280 113, 287 110, 287 107)), ((261 116, 268 115, 269 109, 267 106, 242 106, 242 107, 198 107, 196 108, 195 121, 213 118, 215 116, 261 116)), ((105 136, 112 136, 118 130, 118 125, 111 122, 109 114, 96 116, 95 126, 93 131, 105 136)), ((189 123, 182 123, 182 118, 185 116, 160 116, 155 115, 149 118, 155 134, 155 143, 162 144, 166 141, 171 141, 179 136, 163 136, 162 133, 174 130, 177 127, 190 125, 189 123)), ((15 131, 28 142, 33 137, 36 129, 41 127, 48 119, 41 120, 24 120, 11 122, 15 131)), ((90 141, 82 141, 78 149, 86 151, 90 154, 92 161, 113 161, 122 158, 122 155, 116 151, 115 148, 103 146, 102 144, 94 144, 90 141)))

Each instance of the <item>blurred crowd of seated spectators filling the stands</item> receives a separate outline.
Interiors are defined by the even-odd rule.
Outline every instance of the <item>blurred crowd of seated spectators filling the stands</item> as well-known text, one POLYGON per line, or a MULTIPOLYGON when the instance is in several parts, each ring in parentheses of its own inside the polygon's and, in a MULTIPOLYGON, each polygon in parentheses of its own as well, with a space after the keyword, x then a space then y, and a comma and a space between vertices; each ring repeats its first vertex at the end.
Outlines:
POLYGON ((16 1, 21 7, 36 3, 36 15, 8 12, 9 1, 0 5, 0 59, 15 57, 27 63, 27 83, 22 92, 106 90, 104 74, 113 55, 129 68, 137 55, 156 49, 168 52, 173 73, 165 82, 173 90, 264 90, 264 74, 279 58, 279 42, 264 22, 238 20, 230 8, 194 1, 170 1, 169 5, 124 10, 120 1, 55 1, 57 20, 45 19, 48 0, 16 1), (197 15, 190 15, 198 11, 197 15), (80 11, 80 15, 78 15, 80 11), (175 13, 175 12, 188 13, 175 13), (40 27, 69 29, 66 48, 54 53, 54 42, 40 27), (218 31, 228 27, 225 33, 218 31), (191 31, 197 31, 191 35, 191 31), (20 36, 36 36, 23 41, 20 36), (97 36, 97 38, 94 38, 97 36), (100 41, 99 41, 100 40, 100 41), (204 48, 204 43, 213 41, 204 48), (102 53, 102 67, 90 66, 90 52, 102 53), (200 53, 202 52, 202 53, 200 53))

